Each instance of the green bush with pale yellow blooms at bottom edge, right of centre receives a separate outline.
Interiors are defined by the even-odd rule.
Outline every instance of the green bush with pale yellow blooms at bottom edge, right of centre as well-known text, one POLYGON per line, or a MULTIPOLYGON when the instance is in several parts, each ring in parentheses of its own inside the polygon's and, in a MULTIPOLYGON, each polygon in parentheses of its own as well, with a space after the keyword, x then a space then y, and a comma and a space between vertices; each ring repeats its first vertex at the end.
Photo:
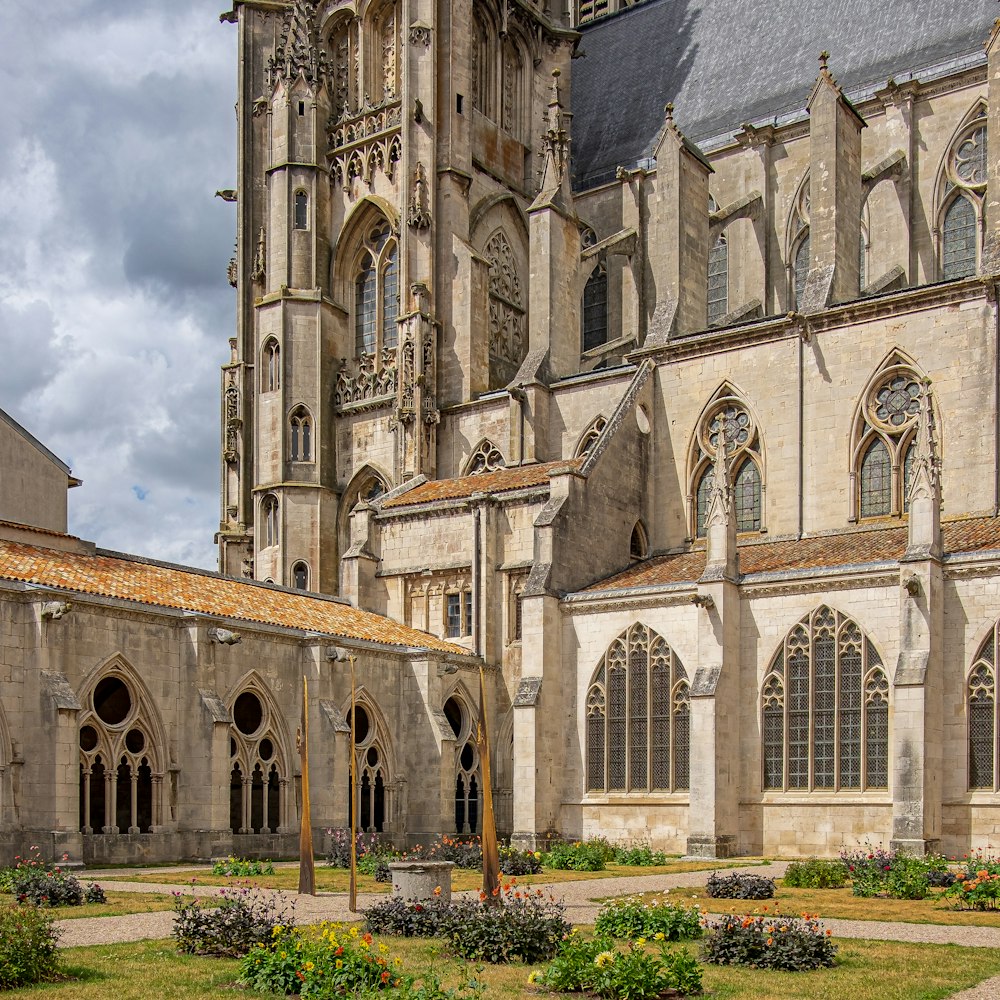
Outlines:
POLYGON ((654 951, 639 939, 616 950, 606 938, 583 941, 573 934, 562 942, 552 964, 533 973, 530 981, 558 993, 587 991, 621 1000, 654 1000, 675 992, 700 993, 701 969, 683 949, 654 951))

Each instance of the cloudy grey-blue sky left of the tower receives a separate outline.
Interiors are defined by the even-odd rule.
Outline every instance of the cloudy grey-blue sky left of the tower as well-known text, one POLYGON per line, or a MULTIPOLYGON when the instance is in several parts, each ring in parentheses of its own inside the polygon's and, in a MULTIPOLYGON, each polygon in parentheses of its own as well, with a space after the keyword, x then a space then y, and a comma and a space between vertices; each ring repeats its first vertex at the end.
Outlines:
POLYGON ((70 531, 215 567, 235 206, 225 0, 0 0, 0 407, 70 531))

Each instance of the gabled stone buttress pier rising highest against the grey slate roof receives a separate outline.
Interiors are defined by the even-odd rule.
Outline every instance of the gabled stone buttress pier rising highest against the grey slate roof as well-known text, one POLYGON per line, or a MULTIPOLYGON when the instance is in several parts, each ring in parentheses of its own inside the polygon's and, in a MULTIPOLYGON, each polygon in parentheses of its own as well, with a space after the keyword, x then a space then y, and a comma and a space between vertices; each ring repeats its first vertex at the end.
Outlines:
POLYGON ((809 112, 809 276, 802 312, 856 299, 861 243, 861 129, 864 119, 820 54, 809 112))

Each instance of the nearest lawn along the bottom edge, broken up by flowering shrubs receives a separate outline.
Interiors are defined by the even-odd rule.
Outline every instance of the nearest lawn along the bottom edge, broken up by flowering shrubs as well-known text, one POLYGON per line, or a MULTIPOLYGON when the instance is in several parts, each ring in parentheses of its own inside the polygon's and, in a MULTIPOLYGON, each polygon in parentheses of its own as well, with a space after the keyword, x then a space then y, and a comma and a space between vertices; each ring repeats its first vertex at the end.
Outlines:
MULTIPOLYGON (((468 978, 472 965, 449 958, 440 941, 385 938, 403 969, 428 969, 446 985, 468 978)), ((954 945, 915 945, 894 941, 838 941, 837 965, 816 972, 761 972, 706 965, 704 988, 713 1000, 940 1000, 1000 975, 1000 952, 954 945)), ((697 945, 688 945, 697 950, 697 945)), ((45 996, 52 1000, 165 1000, 233 995, 239 963, 231 959, 179 955, 171 941, 70 948, 63 970, 72 979, 11 991, 5 996, 45 996)), ((487 966, 481 976, 488 997, 524 1000, 569 994, 541 993, 527 986, 535 966, 487 966)), ((253 997, 257 994, 241 992, 253 997)))

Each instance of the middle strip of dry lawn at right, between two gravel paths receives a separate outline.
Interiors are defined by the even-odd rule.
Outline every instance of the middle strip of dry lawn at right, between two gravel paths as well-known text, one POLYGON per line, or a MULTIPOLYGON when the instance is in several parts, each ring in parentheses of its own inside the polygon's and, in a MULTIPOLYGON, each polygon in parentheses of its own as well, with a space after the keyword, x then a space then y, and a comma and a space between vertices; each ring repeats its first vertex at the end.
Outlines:
MULTIPOLYGON (((956 910, 944 898, 943 889, 932 889, 926 899, 862 899, 846 889, 786 889, 775 883, 774 899, 713 899, 704 889, 671 889, 668 902, 683 906, 697 903, 709 913, 768 913, 800 916, 815 913, 843 920, 889 920, 907 924, 958 924, 1000 927, 1000 910, 956 910)), ((658 899, 661 893, 646 893, 658 899)))

